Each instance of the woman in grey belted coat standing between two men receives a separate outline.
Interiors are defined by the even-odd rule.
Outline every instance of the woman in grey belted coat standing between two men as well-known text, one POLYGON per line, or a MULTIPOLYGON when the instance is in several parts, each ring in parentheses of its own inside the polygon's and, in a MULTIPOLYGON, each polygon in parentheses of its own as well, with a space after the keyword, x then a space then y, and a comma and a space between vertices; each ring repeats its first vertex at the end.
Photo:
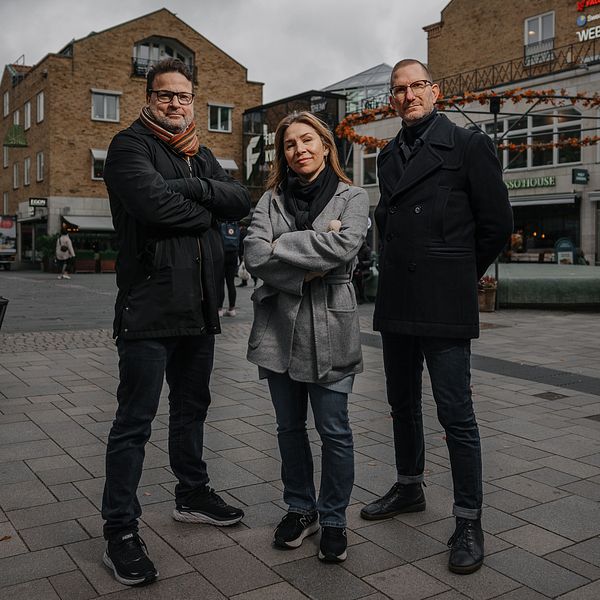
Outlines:
POLYGON ((362 370, 351 283, 369 201, 349 185, 327 126, 309 112, 275 132, 268 191, 244 241, 246 268, 263 280, 253 296, 248 360, 267 378, 277 418, 288 513, 274 544, 297 548, 322 526, 319 558, 346 558, 346 507, 354 482, 348 393, 362 370), (306 431, 310 399, 322 442, 318 499, 306 431))

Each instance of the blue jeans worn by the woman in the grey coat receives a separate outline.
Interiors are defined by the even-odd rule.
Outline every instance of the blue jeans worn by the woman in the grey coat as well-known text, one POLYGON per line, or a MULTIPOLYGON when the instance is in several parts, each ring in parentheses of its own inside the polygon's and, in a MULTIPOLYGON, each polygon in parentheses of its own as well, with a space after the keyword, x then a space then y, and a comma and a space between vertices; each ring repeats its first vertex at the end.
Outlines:
POLYGON ((348 394, 314 383, 300 383, 287 373, 268 377, 277 417, 283 500, 300 514, 319 512, 326 527, 346 526, 346 507, 354 484, 354 443, 348 419, 348 394), (313 459, 306 431, 308 398, 321 436, 321 489, 316 499, 313 459))

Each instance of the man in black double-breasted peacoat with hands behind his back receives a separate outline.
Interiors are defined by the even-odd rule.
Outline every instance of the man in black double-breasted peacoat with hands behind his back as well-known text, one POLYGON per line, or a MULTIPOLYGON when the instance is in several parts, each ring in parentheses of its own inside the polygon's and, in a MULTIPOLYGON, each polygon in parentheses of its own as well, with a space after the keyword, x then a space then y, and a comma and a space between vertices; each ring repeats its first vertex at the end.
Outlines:
POLYGON ((403 127, 378 157, 375 219, 382 247, 373 319, 382 337, 397 482, 361 516, 425 510, 425 360, 454 484, 449 568, 472 573, 484 549, 470 340, 479 336, 477 282, 508 240, 512 212, 489 137, 437 113, 439 88, 427 68, 400 61, 390 84, 390 103, 403 127))

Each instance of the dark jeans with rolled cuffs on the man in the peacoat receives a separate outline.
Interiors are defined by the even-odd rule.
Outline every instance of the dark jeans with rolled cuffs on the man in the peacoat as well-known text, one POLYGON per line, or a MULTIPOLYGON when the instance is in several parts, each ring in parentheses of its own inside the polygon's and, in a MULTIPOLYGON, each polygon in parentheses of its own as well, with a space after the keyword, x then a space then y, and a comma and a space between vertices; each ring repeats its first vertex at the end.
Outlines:
POLYGON ((388 402, 392 408, 400 483, 423 481, 425 442, 421 389, 423 359, 438 419, 446 432, 454 484, 454 515, 481 516, 481 445, 471 399, 470 340, 381 334, 388 402))

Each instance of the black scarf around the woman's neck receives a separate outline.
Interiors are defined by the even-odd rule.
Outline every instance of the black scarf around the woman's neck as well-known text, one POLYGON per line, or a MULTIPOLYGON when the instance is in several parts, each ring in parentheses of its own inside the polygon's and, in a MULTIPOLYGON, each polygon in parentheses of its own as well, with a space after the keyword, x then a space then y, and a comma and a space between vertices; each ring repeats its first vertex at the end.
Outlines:
POLYGON ((292 171, 289 172, 282 184, 283 197, 285 208, 294 216, 299 231, 312 229, 314 220, 335 195, 339 181, 328 164, 310 183, 304 183, 292 171))

